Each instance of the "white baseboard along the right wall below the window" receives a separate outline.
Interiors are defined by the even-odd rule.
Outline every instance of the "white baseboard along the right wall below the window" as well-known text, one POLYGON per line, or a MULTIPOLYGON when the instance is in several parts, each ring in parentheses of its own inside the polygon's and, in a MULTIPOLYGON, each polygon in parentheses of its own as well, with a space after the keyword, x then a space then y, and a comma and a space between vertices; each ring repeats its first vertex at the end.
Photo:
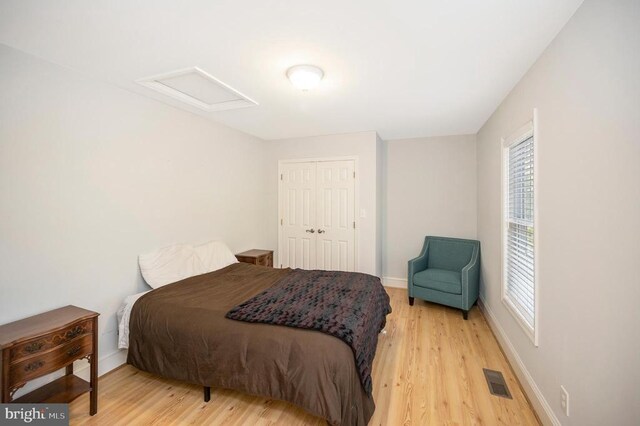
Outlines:
POLYGON ((489 308, 489 306, 484 303, 484 299, 482 297, 478 299, 478 306, 480 307, 482 312, 484 312, 484 316, 489 323, 489 327, 491 327, 491 329, 493 330, 493 334, 495 334, 498 342, 500 343, 500 346, 502 346, 502 350, 507 356, 507 359, 511 364, 511 368, 513 368, 513 371, 516 373, 516 376, 518 377, 518 380, 520 381, 524 392, 527 394, 529 401, 531 401, 531 405, 533 405, 533 408, 535 409, 536 414, 538 414, 538 417, 540 418, 542 424, 561 426, 560 420, 558 420, 558 418, 554 414, 551 406, 542 395, 540 388, 533 380, 533 377, 531 377, 531 374, 529 374, 529 371, 524 365, 524 362, 522 362, 522 359, 518 355, 518 352, 516 351, 515 347, 507 337, 504 329, 498 322, 498 319, 493 314, 491 308, 489 308))

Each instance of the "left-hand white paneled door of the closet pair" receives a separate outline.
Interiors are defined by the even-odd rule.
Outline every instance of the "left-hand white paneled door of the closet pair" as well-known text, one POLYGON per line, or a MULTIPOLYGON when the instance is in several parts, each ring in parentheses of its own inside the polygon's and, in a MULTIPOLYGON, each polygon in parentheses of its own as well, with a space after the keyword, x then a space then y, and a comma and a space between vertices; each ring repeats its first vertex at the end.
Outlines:
POLYGON ((316 162, 288 163, 280 169, 280 264, 316 269, 316 162))

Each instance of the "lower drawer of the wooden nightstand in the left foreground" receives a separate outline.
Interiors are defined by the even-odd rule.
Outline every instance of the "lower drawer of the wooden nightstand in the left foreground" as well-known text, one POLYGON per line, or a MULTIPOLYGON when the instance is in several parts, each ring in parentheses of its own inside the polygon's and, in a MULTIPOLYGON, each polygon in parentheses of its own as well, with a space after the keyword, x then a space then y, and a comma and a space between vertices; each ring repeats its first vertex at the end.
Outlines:
POLYGON ((54 372, 91 353, 91 335, 79 337, 53 350, 16 362, 9 367, 10 386, 54 372))

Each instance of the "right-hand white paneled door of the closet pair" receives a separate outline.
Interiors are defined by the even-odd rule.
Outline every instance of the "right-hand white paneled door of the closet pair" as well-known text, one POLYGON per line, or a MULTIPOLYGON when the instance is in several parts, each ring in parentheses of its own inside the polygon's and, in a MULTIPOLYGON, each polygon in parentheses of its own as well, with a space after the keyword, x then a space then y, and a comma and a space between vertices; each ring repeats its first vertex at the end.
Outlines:
POLYGON ((355 163, 319 161, 316 269, 355 270, 355 163))

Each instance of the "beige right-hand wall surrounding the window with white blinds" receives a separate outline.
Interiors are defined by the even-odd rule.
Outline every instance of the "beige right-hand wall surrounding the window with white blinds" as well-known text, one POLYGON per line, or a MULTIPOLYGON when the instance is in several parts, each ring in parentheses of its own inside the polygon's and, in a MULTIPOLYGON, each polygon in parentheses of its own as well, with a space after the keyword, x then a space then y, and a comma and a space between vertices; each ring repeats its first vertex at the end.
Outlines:
POLYGON ((585 1, 478 133, 482 297, 563 425, 640 418, 639 23, 640 2, 585 1), (500 300, 500 138, 534 107, 538 348, 500 300))

